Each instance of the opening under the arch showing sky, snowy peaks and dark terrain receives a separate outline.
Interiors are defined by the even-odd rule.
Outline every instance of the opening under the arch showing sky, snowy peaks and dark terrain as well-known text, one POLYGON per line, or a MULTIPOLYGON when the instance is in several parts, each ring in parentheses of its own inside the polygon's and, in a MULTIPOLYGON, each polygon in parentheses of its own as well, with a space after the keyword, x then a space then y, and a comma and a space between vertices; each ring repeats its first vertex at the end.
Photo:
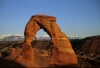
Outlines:
POLYGON ((34 41, 31 43, 32 47, 39 50, 48 50, 51 51, 51 37, 43 29, 37 31, 34 41))

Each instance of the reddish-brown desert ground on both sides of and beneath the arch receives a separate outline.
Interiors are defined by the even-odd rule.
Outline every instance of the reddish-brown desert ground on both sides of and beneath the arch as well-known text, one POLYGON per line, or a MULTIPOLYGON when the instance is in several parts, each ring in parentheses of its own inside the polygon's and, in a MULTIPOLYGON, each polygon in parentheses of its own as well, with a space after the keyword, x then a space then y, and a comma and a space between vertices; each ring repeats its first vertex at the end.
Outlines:
MULTIPOLYGON (((84 39, 71 39, 70 42, 78 57, 78 65, 72 66, 73 68, 100 68, 100 36, 91 36, 84 39)), ((14 61, 21 52, 22 44, 22 41, 0 41, 0 68, 24 68, 23 65, 14 61), (10 55, 11 49, 14 49, 13 55, 10 55)), ((71 68, 67 66, 49 65, 52 49, 50 40, 34 40, 31 45, 35 52, 34 58, 36 67, 71 68)))

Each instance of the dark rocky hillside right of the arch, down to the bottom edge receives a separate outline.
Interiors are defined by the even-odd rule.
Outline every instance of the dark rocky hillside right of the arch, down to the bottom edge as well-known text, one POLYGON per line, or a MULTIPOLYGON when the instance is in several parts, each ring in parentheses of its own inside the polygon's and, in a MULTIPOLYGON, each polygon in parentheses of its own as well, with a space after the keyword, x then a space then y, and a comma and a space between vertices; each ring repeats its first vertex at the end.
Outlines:
POLYGON ((100 68, 100 36, 71 41, 80 68, 100 68))

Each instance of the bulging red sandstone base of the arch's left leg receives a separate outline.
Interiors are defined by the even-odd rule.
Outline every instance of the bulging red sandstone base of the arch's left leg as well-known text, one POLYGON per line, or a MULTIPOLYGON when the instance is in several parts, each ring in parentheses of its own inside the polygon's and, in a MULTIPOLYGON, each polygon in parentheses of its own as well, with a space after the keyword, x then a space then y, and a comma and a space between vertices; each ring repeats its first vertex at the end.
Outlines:
POLYGON ((22 52, 15 61, 25 67, 34 67, 34 51, 31 45, 23 44, 22 52))

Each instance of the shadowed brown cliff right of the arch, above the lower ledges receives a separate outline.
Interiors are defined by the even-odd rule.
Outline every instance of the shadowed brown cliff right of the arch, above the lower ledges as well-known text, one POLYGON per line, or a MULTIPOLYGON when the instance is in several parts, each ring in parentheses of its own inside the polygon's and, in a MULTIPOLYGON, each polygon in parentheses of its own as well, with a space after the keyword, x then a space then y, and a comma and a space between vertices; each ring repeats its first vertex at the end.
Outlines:
POLYGON ((88 57, 100 56, 100 36, 71 41, 76 53, 88 57))

